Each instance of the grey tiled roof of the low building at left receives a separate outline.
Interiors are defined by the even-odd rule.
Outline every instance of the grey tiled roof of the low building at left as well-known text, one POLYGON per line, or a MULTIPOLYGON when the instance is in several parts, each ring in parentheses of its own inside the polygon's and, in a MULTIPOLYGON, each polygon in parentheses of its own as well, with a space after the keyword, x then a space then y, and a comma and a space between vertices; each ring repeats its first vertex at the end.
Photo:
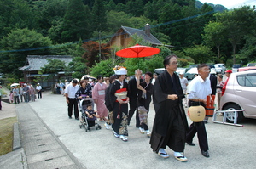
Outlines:
POLYGON ((26 65, 20 67, 19 70, 28 70, 35 71, 40 70, 41 67, 48 64, 47 59, 59 59, 65 62, 65 65, 68 65, 72 61, 72 56, 65 55, 28 55, 26 58, 26 65))

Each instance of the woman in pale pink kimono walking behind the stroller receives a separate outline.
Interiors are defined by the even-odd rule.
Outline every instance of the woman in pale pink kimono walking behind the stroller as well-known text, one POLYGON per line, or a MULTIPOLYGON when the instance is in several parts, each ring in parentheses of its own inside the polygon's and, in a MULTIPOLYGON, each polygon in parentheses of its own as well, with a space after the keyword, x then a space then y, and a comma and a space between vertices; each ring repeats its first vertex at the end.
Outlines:
POLYGON ((106 117, 108 116, 108 110, 105 102, 105 90, 107 88, 107 84, 103 82, 102 76, 97 76, 97 83, 92 89, 92 99, 97 105, 97 112, 100 116, 100 121, 107 121, 106 117))

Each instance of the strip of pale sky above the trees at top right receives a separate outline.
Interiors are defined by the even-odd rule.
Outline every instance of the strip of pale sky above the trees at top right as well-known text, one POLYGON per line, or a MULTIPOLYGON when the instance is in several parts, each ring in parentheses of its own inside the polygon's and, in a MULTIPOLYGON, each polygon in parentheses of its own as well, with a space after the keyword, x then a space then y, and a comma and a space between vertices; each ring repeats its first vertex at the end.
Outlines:
POLYGON ((244 5, 250 5, 253 8, 253 5, 256 5, 256 0, 199 0, 201 3, 212 3, 212 4, 221 4, 225 8, 240 8, 244 5))

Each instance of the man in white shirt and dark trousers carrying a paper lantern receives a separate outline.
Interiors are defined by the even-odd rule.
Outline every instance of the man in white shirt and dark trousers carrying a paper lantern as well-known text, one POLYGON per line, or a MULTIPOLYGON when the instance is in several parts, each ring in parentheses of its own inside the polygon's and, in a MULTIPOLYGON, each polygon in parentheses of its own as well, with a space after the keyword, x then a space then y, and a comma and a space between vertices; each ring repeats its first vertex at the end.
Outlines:
MULTIPOLYGON (((188 86, 188 99, 189 106, 202 105, 205 107, 207 104, 207 95, 211 95, 212 88, 211 82, 208 79, 210 69, 206 64, 198 65, 197 67, 198 75, 196 76, 188 86)), ((195 146, 192 142, 195 133, 197 132, 197 138, 201 149, 201 154, 205 157, 209 157, 208 153, 208 141, 207 141, 207 131, 205 127, 204 121, 201 122, 193 122, 189 131, 186 134, 186 142, 189 145, 195 146)))

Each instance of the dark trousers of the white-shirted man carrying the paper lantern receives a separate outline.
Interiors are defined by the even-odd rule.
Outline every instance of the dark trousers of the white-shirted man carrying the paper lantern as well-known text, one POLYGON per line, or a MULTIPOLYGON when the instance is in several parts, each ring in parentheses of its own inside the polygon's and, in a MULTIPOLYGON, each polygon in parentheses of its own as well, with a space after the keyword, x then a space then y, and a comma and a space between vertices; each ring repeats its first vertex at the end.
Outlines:
MULTIPOLYGON (((189 106, 191 106, 191 102, 189 101, 189 106)), ((197 138, 199 142, 199 146, 201 150, 208 150, 208 140, 207 140, 207 131, 205 127, 204 121, 201 122, 193 122, 189 131, 186 134, 186 141, 192 143, 195 133, 197 132, 197 138)))

